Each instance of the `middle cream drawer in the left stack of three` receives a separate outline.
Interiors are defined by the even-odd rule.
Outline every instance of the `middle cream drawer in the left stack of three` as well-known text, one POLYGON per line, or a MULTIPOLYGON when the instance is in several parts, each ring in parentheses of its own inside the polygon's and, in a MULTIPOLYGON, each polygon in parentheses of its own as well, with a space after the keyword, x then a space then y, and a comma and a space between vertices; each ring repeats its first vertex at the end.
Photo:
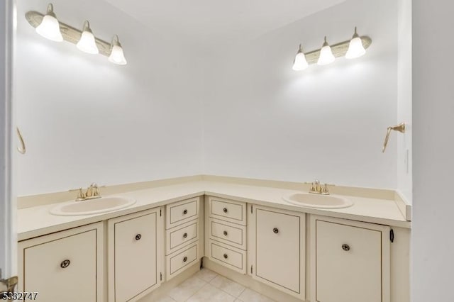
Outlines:
POLYGON ((169 255, 199 240, 199 220, 192 220, 166 231, 166 254, 169 255))

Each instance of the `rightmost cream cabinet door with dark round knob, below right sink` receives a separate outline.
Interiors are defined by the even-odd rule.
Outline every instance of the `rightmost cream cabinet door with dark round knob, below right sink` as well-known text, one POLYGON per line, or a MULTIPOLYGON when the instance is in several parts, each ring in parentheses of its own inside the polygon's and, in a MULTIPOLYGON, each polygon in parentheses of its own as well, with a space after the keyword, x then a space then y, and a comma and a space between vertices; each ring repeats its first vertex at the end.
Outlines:
POLYGON ((311 302, 389 302, 389 230, 311 216, 311 302))

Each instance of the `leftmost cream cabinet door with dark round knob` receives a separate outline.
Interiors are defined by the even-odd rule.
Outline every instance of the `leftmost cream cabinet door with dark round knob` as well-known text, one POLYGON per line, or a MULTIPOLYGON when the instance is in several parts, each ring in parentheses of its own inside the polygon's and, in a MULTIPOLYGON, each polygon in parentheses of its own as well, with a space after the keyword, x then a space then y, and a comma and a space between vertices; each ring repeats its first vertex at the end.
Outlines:
POLYGON ((38 301, 104 301, 103 223, 18 242, 18 291, 38 301))

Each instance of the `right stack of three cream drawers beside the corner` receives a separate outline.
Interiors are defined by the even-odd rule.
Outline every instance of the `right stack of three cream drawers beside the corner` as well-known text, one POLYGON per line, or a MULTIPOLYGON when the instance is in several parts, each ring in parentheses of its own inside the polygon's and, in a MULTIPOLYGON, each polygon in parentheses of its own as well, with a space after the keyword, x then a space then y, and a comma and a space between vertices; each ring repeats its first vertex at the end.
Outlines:
POLYGON ((208 197, 209 259, 236 272, 246 273, 246 203, 208 197))

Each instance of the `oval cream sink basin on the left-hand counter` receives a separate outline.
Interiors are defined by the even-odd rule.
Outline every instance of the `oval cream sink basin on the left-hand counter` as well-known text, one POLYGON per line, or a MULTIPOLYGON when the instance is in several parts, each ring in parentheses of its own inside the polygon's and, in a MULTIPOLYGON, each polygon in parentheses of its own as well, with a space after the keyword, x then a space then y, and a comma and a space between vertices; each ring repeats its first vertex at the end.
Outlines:
POLYGON ((55 208, 50 209, 52 215, 57 216, 79 216, 92 215, 117 211, 122 208, 127 208, 135 203, 133 198, 121 196, 109 196, 87 201, 68 201, 60 203, 55 208))

